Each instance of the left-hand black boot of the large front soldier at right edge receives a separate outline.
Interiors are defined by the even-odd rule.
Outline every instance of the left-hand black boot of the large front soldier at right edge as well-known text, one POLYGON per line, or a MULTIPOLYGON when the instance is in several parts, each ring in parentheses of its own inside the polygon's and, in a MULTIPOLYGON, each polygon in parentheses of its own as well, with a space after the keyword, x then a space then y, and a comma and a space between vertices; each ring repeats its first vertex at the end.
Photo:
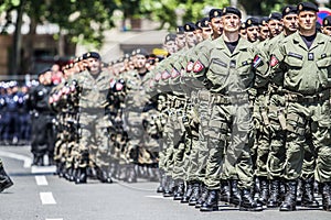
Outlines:
POLYGON ((287 194, 284 202, 281 204, 280 211, 295 211, 297 209, 297 180, 288 180, 286 183, 287 194))

